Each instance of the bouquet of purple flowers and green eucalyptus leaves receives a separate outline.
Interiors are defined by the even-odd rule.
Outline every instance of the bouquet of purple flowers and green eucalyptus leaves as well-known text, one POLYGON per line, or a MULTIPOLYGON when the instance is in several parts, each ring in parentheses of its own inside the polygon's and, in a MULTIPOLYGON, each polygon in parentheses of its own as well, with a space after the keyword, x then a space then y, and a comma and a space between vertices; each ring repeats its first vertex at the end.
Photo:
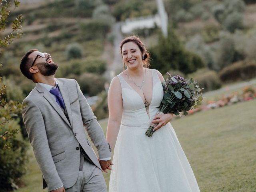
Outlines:
MULTIPOLYGON (((168 72, 167 75, 164 98, 160 104, 158 114, 173 113, 179 115, 179 112, 183 112, 184 115, 187 115, 187 111, 202 104, 204 88, 199 88, 198 83, 193 78, 186 80, 175 74, 172 77, 168 72)), ((156 125, 154 123, 150 124, 146 131, 148 137, 153 136, 153 129, 156 125)))

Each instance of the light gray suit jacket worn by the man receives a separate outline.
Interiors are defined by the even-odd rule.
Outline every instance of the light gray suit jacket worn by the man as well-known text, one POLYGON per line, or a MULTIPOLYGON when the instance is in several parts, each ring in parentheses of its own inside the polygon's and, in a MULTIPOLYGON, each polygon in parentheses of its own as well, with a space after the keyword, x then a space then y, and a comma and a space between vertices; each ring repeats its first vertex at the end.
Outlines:
POLYGON ((84 126, 96 146, 99 158, 111 157, 108 143, 76 80, 57 78, 69 120, 56 100, 40 84, 25 98, 23 120, 34 155, 48 185, 54 190, 72 187, 79 172, 82 146, 101 169, 84 126))

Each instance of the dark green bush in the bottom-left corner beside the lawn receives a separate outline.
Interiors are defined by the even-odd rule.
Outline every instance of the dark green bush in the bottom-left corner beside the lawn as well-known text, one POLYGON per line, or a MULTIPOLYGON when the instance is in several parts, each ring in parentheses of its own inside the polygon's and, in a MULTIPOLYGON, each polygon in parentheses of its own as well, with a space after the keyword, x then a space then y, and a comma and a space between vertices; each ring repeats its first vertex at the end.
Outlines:
MULTIPOLYGON (((3 128, 3 132, 10 129, 19 128, 15 120, 10 121, 3 128)), ((20 133, 16 138, 8 139, 12 143, 11 150, 0 150, 0 192, 12 191, 17 189, 20 177, 26 173, 26 155, 28 144, 25 142, 20 133)), ((6 144, 6 141, 0 139, 0 146, 6 144)))

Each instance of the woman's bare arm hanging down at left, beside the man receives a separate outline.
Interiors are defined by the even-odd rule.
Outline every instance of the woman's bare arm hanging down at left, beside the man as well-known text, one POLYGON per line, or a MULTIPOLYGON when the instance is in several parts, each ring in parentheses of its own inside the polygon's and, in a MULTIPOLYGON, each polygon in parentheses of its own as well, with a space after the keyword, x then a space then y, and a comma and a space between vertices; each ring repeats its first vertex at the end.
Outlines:
POLYGON ((122 119, 122 88, 118 77, 114 77, 108 90, 108 128, 106 140, 111 148, 116 144, 116 138, 119 132, 122 119))

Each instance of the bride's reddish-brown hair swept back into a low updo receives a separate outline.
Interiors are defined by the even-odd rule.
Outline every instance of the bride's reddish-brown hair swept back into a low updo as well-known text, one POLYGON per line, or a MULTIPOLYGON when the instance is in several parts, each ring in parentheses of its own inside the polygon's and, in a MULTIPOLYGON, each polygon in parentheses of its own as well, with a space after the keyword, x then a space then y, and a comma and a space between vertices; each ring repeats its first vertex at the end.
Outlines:
POLYGON ((138 47, 140 48, 140 51, 142 52, 142 55, 144 54, 144 58, 142 57, 143 66, 148 68, 150 66, 150 64, 149 64, 150 54, 146 50, 144 44, 142 43, 142 41, 140 40, 140 38, 138 36, 128 36, 128 37, 124 38, 124 40, 122 40, 121 45, 120 45, 121 54, 122 54, 123 45, 128 42, 134 42, 136 45, 138 45, 138 47))

